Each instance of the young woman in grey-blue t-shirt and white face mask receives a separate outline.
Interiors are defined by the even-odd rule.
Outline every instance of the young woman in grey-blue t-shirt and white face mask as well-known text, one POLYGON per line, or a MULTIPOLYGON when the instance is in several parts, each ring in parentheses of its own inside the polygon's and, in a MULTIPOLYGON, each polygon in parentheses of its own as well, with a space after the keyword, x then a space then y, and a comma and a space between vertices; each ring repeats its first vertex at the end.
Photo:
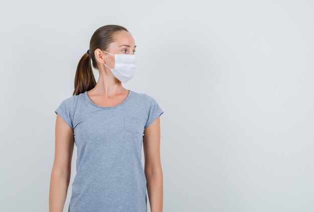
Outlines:
POLYGON ((77 66, 73 95, 55 110, 50 212, 63 211, 74 143, 76 175, 68 211, 146 212, 146 188, 151 211, 162 211, 159 116, 164 111, 154 98, 122 87, 135 74, 135 47, 121 26, 103 26, 92 35, 77 66), (91 65, 99 70, 97 84, 91 65))

